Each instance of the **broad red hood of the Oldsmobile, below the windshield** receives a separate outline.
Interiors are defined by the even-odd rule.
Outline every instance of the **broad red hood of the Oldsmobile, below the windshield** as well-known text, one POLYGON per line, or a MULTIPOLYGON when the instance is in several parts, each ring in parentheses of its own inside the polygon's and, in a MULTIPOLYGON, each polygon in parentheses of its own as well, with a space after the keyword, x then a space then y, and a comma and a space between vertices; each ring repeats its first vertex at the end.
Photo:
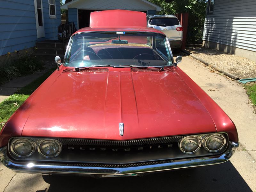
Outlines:
POLYGON ((174 70, 111 70, 61 73, 40 86, 23 107, 30 115, 22 135, 130 140, 216 132, 207 109, 174 70))

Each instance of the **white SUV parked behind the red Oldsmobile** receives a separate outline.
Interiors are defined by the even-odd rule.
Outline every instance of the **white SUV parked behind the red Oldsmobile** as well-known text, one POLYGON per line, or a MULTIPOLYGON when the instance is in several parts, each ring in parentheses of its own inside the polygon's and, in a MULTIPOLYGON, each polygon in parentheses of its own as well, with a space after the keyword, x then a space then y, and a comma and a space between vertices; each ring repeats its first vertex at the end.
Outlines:
POLYGON ((147 26, 162 31, 170 42, 173 52, 180 52, 183 27, 174 15, 147 15, 147 26))

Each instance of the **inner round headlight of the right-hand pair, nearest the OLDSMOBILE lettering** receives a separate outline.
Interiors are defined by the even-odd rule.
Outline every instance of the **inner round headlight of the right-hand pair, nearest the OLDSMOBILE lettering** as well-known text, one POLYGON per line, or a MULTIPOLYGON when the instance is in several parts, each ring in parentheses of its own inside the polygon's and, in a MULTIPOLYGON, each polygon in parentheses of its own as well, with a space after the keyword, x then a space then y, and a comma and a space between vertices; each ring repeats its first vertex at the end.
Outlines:
POLYGON ((180 150, 183 153, 191 154, 198 151, 201 147, 201 140, 195 136, 188 136, 180 141, 180 150))

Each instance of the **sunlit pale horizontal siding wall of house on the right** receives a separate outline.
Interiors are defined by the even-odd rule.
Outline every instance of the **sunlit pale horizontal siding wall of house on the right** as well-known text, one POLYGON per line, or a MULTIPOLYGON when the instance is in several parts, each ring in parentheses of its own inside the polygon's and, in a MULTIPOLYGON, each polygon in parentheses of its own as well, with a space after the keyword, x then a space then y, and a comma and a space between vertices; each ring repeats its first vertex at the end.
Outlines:
POLYGON ((203 40, 206 46, 231 46, 227 52, 244 57, 250 53, 249 59, 256 60, 256 1, 215 0, 213 13, 206 14, 203 40))

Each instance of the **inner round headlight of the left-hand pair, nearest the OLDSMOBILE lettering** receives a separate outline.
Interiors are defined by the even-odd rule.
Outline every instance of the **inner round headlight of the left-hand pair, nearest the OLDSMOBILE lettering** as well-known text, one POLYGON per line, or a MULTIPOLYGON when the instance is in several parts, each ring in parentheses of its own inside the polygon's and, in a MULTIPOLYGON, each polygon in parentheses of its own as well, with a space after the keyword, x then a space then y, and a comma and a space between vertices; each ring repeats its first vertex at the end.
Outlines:
POLYGON ((44 157, 56 157, 61 152, 61 145, 56 140, 43 140, 38 144, 37 149, 44 157))

